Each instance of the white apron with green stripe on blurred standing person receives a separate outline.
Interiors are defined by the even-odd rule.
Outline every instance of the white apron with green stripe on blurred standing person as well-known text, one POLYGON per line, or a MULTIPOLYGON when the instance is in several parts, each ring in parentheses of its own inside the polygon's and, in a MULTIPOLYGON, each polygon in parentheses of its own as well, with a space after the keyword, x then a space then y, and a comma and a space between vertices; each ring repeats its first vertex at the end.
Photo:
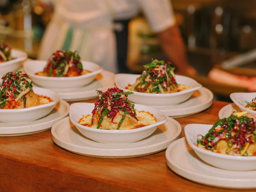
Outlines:
POLYGON ((95 62, 117 72, 116 41, 112 18, 102 0, 56 1, 54 16, 47 26, 39 60, 56 50, 77 50, 82 60, 95 62))

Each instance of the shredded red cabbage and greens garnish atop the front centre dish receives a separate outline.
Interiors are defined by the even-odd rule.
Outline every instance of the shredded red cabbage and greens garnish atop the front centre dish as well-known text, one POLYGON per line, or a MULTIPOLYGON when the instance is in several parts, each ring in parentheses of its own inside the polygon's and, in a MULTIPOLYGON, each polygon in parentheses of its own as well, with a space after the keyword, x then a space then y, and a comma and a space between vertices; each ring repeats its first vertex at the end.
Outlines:
POLYGON ((120 112, 123 113, 123 116, 118 123, 117 129, 120 128, 125 116, 130 116, 138 121, 134 104, 127 100, 127 96, 133 94, 133 92, 123 92, 123 90, 118 88, 109 88, 106 92, 97 90, 97 94, 99 95, 99 100, 95 103, 95 107, 92 110, 92 124, 95 114, 100 114, 97 129, 100 128, 104 116, 112 118, 111 121, 114 123, 114 118, 120 112))

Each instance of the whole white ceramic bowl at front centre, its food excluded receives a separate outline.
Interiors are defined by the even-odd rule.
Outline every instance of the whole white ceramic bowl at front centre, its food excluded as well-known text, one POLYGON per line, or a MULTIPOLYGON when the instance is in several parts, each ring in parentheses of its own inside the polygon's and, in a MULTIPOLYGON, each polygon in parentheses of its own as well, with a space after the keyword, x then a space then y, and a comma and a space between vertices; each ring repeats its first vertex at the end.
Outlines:
POLYGON ((151 135, 158 125, 167 121, 166 117, 157 109, 135 104, 137 110, 148 111, 157 118, 157 122, 145 127, 130 130, 94 129, 77 123, 83 115, 91 114, 94 103, 74 103, 69 108, 69 118, 73 125, 86 137, 100 143, 133 143, 151 135))

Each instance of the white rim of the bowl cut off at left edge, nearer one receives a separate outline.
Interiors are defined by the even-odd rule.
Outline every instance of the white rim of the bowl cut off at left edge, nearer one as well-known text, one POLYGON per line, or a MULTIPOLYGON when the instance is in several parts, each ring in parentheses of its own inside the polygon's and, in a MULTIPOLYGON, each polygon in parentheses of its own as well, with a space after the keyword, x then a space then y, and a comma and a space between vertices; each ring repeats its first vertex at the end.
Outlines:
MULTIPOLYGON (((45 89, 45 88, 39 88, 39 87, 35 87, 33 89, 41 89, 41 90, 47 90, 47 91, 52 91, 50 89, 45 89)), ((56 94, 57 99, 56 101, 52 101, 51 103, 47 103, 47 104, 41 104, 41 105, 37 105, 37 106, 33 106, 33 107, 28 107, 28 108, 22 108, 22 109, 0 109, 0 114, 1 113, 20 113, 20 112, 28 112, 28 111, 33 111, 33 110, 37 110, 37 109, 41 109, 41 108, 46 108, 49 106, 53 106, 57 103, 59 103, 60 101, 60 95, 58 93, 56 93, 55 91, 52 91, 54 94, 56 94)))

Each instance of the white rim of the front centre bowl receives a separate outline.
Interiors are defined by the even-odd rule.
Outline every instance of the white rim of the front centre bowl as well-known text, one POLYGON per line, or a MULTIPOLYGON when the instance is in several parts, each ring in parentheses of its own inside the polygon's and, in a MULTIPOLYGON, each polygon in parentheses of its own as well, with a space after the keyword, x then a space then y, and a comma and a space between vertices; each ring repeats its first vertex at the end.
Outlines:
MULTIPOLYGON (((112 134, 124 134, 124 133, 141 132, 141 131, 144 131, 144 130, 147 130, 147 129, 151 129, 151 128, 157 127, 159 125, 162 125, 162 124, 166 123, 166 121, 167 121, 166 116, 164 116, 164 114, 160 110, 157 110, 157 109, 155 109, 153 107, 147 106, 149 108, 153 108, 154 110, 159 111, 161 116, 164 117, 164 119, 159 121, 159 122, 156 122, 154 124, 147 125, 147 126, 144 126, 144 127, 139 127, 139 128, 136 128, 136 129, 128 129, 128 130, 120 130, 120 129, 118 129, 118 130, 95 129, 95 128, 87 127, 87 126, 84 126, 84 125, 80 125, 79 123, 77 123, 77 122, 75 122, 73 120, 73 118, 71 117, 72 116, 71 110, 72 110, 72 106, 75 106, 76 104, 80 104, 80 103, 73 103, 73 104, 70 105, 70 108, 69 108, 69 119, 70 119, 71 123, 73 123, 73 125, 75 125, 75 127, 78 126, 80 129, 84 129, 84 130, 91 131, 91 132, 112 133, 112 134)), ((94 103, 82 103, 82 104, 94 106, 94 103)), ((136 105, 146 106, 146 105, 142 105, 142 104, 135 104, 135 106, 136 105)))

